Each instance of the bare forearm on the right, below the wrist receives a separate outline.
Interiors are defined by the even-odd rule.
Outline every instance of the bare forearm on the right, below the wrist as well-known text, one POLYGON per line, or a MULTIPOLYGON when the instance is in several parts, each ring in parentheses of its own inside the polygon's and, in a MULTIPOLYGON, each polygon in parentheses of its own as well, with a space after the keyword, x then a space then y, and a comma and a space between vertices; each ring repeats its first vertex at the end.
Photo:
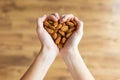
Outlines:
POLYGON ((71 48, 65 51, 62 56, 74 80, 94 80, 77 48, 71 48))

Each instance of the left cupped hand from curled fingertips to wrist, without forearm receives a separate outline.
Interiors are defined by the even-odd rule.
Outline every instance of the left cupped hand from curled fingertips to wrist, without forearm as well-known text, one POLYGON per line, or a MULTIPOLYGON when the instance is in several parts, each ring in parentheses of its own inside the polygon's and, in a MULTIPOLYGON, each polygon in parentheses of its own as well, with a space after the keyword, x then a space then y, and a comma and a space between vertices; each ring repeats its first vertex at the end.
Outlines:
POLYGON ((53 21, 59 20, 58 13, 51 14, 49 16, 44 15, 43 17, 38 19, 38 26, 37 26, 37 33, 38 37, 43 45, 43 47, 47 47, 48 49, 51 49, 52 51, 55 51, 58 53, 59 49, 57 45, 54 43, 52 37, 49 35, 49 33, 45 30, 43 27, 43 22, 45 19, 51 19, 53 21))

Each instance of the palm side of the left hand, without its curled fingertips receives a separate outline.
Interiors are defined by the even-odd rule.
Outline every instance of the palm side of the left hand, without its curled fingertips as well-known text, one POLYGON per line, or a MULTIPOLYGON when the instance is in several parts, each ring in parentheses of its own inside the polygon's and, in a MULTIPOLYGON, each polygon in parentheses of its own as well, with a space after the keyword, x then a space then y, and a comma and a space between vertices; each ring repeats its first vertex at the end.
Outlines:
POLYGON ((47 46, 49 48, 56 49, 58 51, 58 47, 54 43, 52 37, 49 35, 49 33, 43 27, 43 22, 46 18, 48 18, 48 17, 45 15, 42 18, 38 19, 38 27, 37 27, 38 37, 39 37, 42 45, 47 46))

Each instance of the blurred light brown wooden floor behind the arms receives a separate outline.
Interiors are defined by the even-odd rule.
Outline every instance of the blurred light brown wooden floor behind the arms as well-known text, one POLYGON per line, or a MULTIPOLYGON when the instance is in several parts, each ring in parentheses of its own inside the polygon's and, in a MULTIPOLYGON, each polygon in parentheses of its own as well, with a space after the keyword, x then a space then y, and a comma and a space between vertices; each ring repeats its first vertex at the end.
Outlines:
MULTIPOLYGON (((96 80, 120 80, 120 0, 0 0, 0 80, 19 80, 40 50, 36 20, 72 13, 84 21, 81 55, 96 80)), ((45 80, 73 80, 58 55, 45 80)))

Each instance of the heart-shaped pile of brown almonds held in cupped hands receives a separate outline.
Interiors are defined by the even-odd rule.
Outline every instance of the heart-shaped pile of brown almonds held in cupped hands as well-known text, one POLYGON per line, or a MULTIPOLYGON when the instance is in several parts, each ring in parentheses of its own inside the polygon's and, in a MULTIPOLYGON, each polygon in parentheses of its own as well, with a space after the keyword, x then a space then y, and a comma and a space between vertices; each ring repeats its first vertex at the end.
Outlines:
POLYGON ((55 22, 46 19, 43 24, 59 48, 64 46, 65 42, 77 28, 77 23, 74 20, 67 20, 64 23, 60 23, 59 21, 55 22))

